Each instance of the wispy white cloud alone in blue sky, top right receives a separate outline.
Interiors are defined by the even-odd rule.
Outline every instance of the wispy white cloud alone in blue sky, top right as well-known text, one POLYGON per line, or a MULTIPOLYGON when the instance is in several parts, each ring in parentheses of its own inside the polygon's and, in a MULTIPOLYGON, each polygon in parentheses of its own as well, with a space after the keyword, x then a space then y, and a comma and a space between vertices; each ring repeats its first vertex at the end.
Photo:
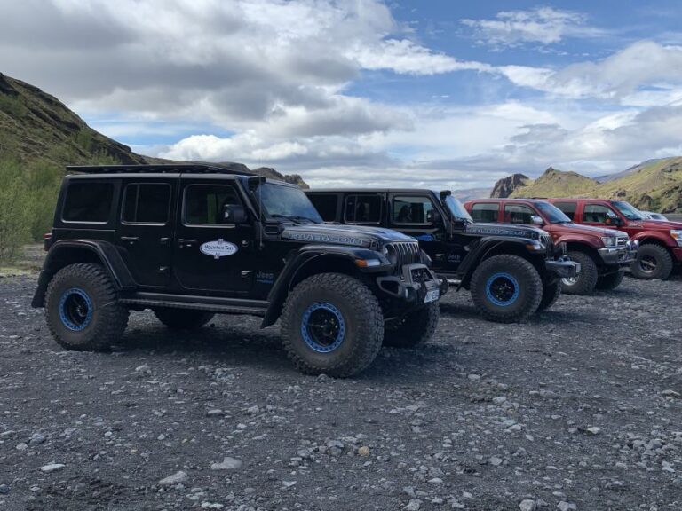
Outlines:
POLYGON ((528 11, 503 11, 495 20, 461 20, 472 28, 478 43, 496 49, 527 43, 549 45, 566 37, 603 35, 598 28, 587 25, 587 17, 580 12, 563 11, 553 7, 536 7, 528 11))

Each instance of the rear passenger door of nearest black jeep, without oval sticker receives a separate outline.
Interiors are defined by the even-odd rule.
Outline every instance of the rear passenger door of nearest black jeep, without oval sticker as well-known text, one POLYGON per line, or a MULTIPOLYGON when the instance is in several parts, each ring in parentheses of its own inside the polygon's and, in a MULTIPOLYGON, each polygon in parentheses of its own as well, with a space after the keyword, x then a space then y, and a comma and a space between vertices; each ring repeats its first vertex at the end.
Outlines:
POLYGON ((166 287, 170 282, 176 183, 141 178, 124 184, 116 246, 140 287, 166 287))

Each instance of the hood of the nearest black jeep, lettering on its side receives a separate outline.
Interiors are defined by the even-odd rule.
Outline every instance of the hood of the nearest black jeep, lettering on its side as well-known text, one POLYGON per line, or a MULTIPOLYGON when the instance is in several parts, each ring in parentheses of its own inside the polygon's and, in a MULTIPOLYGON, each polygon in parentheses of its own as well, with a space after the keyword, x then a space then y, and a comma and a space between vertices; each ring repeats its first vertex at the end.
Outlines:
POLYGON ((282 239, 361 248, 378 248, 393 241, 416 241, 391 229, 347 224, 288 225, 282 232, 282 239))

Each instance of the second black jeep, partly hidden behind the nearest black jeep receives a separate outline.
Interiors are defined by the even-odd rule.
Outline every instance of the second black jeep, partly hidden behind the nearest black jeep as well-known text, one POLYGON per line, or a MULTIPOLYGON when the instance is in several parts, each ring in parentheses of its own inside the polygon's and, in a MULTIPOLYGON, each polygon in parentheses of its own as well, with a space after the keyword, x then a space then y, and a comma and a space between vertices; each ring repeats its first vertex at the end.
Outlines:
POLYGON ((512 322, 557 301, 560 279, 580 264, 566 248, 532 225, 474 224, 449 191, 343 189, 306 191, 326 222, 388 227, 414 236, 432 268, 460 289, 471 290, 484 318, 512 322))

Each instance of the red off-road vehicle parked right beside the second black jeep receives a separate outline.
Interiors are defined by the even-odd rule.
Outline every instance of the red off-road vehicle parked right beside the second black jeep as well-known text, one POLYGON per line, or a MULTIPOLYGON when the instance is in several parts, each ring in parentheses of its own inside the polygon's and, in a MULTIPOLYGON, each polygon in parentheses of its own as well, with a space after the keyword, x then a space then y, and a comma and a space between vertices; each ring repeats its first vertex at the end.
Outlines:
POLYGON ((637 241, 625 232, 574 224, 546 200, 480 199, 464 204, 476 222, 535 224, 549 232, 555 244, 566 243, 567 255, 580 263, 577 277, 561 279, 569 295, 589 295, 595 287, 615 289, 637 258, 637 241))

